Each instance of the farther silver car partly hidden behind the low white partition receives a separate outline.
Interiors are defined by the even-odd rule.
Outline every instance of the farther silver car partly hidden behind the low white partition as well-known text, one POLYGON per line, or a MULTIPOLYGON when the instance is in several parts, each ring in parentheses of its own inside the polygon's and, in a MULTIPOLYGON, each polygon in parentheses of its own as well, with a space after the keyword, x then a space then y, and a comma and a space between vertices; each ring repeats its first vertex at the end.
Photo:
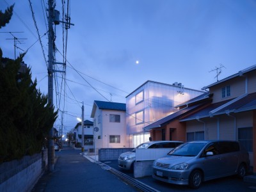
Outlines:
MULTIPOLYGON (((182 144, 182 141, 148 141, 146 143, 141 143, 136 148, 175 148, 182 144)), ((131 152, 125 152, 120 154, 118 158, 118 166, 124 170, 133 170, 135 162, 135 152, 134 148, 131 152)))

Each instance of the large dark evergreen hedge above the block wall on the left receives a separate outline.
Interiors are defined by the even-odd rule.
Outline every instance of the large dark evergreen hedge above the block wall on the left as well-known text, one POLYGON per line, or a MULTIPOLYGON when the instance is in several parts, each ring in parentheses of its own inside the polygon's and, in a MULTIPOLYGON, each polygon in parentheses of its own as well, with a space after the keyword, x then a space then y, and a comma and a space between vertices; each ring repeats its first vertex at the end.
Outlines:
POLYGON ((19 73, 23 56, 5 66, 0 58, 0 163, 40 152, 57 117, 30 68, 19 73))

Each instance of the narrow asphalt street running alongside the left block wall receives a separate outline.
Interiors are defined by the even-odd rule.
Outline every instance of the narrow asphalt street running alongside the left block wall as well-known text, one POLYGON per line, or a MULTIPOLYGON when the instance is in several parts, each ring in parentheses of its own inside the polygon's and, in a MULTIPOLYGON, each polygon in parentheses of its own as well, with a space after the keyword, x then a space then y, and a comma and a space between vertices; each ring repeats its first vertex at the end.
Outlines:
POLYGON ((42 175, 31 191, 138 191, 98 164, 97 156, 81 156, 80 150, 71 147, 56 156, 54 171, 42 175))

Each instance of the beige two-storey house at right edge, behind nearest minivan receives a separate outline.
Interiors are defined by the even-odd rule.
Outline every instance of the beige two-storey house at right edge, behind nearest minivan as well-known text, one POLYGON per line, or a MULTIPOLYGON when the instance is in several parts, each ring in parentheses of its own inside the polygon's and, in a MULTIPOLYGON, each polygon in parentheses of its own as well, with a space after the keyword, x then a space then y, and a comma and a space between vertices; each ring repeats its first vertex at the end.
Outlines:
POLYGON ((203 89, 212 94, 212 102, 180 119, 186 123, 186 141, 240 141, 256 172, 256 65, 203 89))

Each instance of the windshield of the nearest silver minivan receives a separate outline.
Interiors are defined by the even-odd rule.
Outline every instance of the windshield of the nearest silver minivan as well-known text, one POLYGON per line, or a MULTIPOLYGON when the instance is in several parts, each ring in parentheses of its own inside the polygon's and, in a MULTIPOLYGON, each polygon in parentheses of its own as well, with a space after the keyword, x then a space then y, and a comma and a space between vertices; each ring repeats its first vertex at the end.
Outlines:
POLYGON ((168 155, 194 157, 204 148, 206 143, 184 143, 174 148, 168 155))

